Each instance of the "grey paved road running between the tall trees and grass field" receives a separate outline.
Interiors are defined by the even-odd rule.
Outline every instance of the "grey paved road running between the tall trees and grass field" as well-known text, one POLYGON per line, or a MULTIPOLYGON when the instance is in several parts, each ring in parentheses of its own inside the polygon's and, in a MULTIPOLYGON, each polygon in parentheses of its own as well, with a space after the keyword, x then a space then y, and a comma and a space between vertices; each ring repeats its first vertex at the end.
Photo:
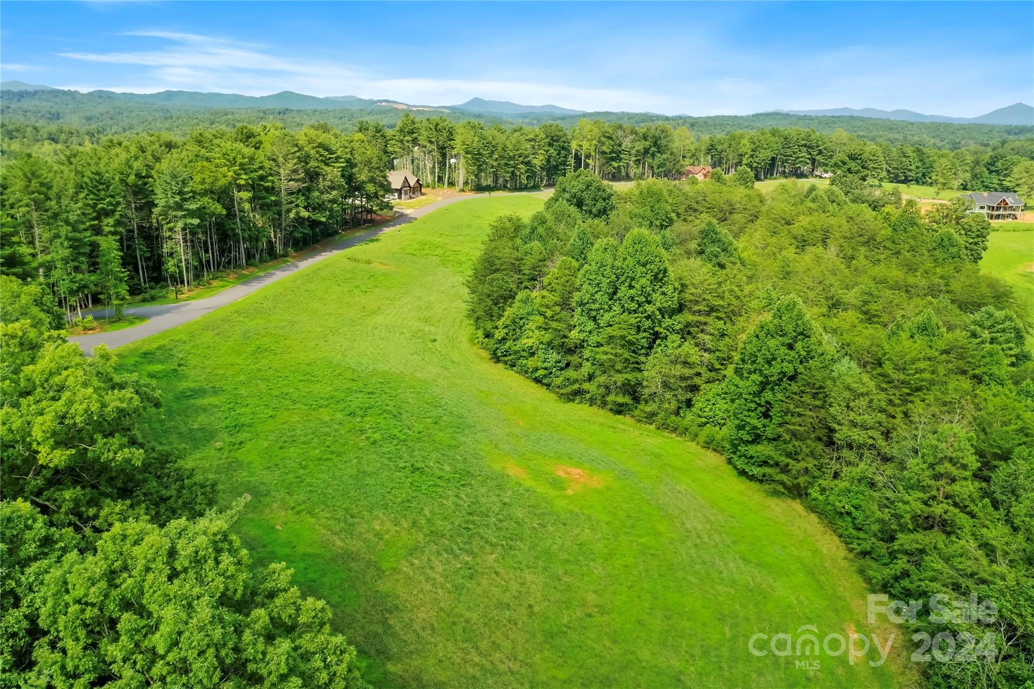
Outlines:
MULTIPOLYGON (((514 193, 541 193, 541 192, 514 192, 514 193)), ((362 244, 370 239, 373 239, 377 234, 383 234, 384 232, 391 231, 400 225, 404 225, 408 222, 413 222, 417 218, 421 218, 428 213, 436 211, 450 203, 455 203, 457 201, 473 200, 476 198, 488 198, 488 194, 472 194, 465 196, 453 196, 451 198, 444 198, 439 201, 434 201, 433 203, 428 203, 419 209, 414 209, 412 211, 404 212, 399 217, 388 222, 385 225, 378 225, 372 229, 368 229, 364 232, 358 234, 353 234, 339 242, 335 242, 324 249, 321 249, 316 253, 313 253, 305 258, 274 268, 272 271, 263 273, 260 276, 251 278, 245 282, 234 285, 233 287, 227 287, 221 292, 216 292, 212 296, 205 299, 195 300, 193 302, 180 302, 179 304, 163 304, 161 306, 141 306, 141 307, 130 307, 125 310, 127 314, 134 316, 144 316, 150 318, 146 323, 141 323, 140 325, 134 325, 133 327, 126 327, 121 331, 115 331, 113 333, 94 333, 93 335, 80 335, 79 337, 68 338, 70 342, 77 343, 83 348, 87 354, 93 353, 93 348, 99 344, 108 345, 109 349, 114 349, 115 347, 121 347, 122 345, 129 344, 130 342, 135 342, 136 340, 143 340, 146 337, 150 337, 156 333, 161 333, 162 331, 168 331, 171 327, 176 327, 177 325, 182 325, 188 321, 199 318, 210 311, 215 311, 220 306, 225 306, 242 296, 246 296, 251 292, 262 289, 266 285, 276 282, 292 273, 297 273, 298 271, 304 270, 313 263, 322 261, 324 258, 336 254, 339 251, 343 251, 357 244, 362 244)), ((97 316, 105 316, 108 312, 105 309, 95 309, 93 314, 97 316)))

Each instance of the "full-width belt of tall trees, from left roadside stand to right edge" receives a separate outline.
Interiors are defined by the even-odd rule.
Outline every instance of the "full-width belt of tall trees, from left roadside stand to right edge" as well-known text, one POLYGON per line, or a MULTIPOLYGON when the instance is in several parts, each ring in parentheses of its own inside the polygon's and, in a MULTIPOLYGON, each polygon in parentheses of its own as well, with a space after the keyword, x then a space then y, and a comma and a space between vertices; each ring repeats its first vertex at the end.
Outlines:
POLYGON ((708 135, 664 122, 507 127, 409 113, 390 129, 359 120, 346 131, 242 124, 182 136, 97 136, 5 120, 2 134, 0 270, 40 277, 69 317, 133 295, 178 296, 220 272, 375 219, 390 208, 391 168, 416 171, 425 187, 459 190, 546 186, 574 169, 608 180, 668 178, 689 164, 712 165, 743 187, 819 173, 870 185, 1034 186, 1031 138, 949 151, 842 129, 708 135))

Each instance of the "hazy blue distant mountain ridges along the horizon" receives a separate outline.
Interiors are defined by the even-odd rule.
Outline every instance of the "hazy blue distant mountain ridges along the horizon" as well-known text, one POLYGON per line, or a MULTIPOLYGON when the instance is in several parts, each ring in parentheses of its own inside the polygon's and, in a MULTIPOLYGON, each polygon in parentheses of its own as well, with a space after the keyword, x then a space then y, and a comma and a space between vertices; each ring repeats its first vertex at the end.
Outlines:
MULTIPOLYGON (((53 91, 53 87, 25 82, 0 82, 3 91, 53 91)), ((458 105, 414 105, 388 98, 360 98, 359 96, 307 96, 294 91, 281 91, 269 96, 244 96, 237 93, 202 93, 199 91, 160 91, 158 93, 119 93, 115 91, 91 91, 91 94, 122 98, 134 102, 186 107, 273 107, 290 109, 378 109, 390 107, 408 111, 438 111, 443 113, 475 113, 494 116, 537 115, 582 115, 584 111, 560 107, 559 105, 523 105, 509 100, 485 100, 472 98, 458 105)), ((787 115, 810 116, 851 116, 905 120, 909 122, 953 122, 960 124, 1004 124, 1034 125, 1034 107, 1014 103, 1006 107, 975 118, 956 118, 943 115, 923 115, 912 111, 881 111, 873 107, 855 109, 837 107, 816 111, 773 111, 787 115)))

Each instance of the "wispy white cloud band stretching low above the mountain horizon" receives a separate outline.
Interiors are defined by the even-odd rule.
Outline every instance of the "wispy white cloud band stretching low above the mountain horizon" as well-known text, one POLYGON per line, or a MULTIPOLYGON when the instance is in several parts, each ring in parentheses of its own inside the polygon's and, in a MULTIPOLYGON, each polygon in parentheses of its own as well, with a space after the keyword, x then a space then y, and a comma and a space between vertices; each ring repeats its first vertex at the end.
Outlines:
POLYGON ((464 67, 463 74, 469 72, 468 77, 445 72, 439 79, 399 77, 394 70, 378 72, 378 67, 357 67, 320 57, 318 49, 312 57, 306 54, 299 58, 262 43, 197 33, 152 29, 122 35, 144 41, 145 50, 67 51, 59 55, 79 62, 113 65, 101 73, 135 86, 116 87, 109 82, 66 88, 139 93, 181 89, 245 95, 290 90, 315 96, 356 95, 429 105, 459 103, 480 96, 585 111, 698 116, 841 106, 975 116, 1008 102, 1030 99, 1029 84, 1025 92, 1023 80, 1014 93, 996 90, 986 95, 974 94, 968 85, 979 79, 984 65, 967 61, 962 55, 927 56, 924 61, 909 62, 896 59, 893 51, 880 52, 868 45, 778 57, 746 49, 714 50, 677 64, 637 58, 633 61, 635 70, 630 70, 619 54, 613 54, 606 60, 591 61, 591 71, 584 73, 577 70, 577 61, 558 63, 555 71, 544 67, 517 69, 486 61, 474 68, 482 69, 482 73, 464 67), (931 60, 937 62, 937 69, 931 68, 931 60), (615 86, 610 86, 608 80, 615 86), (968 95, 960 99, 960 93, 968 95))

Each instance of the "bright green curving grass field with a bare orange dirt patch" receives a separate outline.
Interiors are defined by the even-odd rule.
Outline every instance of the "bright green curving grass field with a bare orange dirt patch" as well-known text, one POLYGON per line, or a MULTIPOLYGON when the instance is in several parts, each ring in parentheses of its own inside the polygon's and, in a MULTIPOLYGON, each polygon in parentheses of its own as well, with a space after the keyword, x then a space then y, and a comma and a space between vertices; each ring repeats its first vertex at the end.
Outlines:
POLYGON ((865 623, 856 563, 798 503, 472 344, 488 225, 541 203, 449 206, 123 348, 162 390, 148 435, 222 504, 252 496, 253 556, 330 601, 375 686, 904 684, 907 635, 865 623), (809 671, 748 649, 804 625, 895 652, 809 671))

